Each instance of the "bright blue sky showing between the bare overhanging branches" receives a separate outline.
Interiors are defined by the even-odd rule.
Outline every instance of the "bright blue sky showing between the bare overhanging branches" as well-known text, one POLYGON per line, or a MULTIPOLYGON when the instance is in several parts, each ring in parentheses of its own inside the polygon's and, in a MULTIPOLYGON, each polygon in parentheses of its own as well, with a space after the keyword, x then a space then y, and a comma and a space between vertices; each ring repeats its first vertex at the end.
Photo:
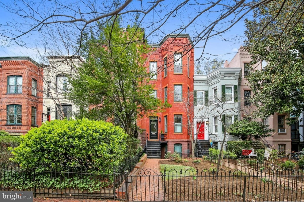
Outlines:
MULTIPOLYGON (((44 5, 40 5, 40 1, 34 1, 38 4, 36 5, 37 8, 41 8, 43 6, 52 6, 50 4, 50 1, 44 1, 44 5)), ((78 1, 71 1, 71 6, 80 6, 83 8, 83 10, 89 10, 90 8, 85 8, 85 6, 80 5, 78 1), (79 4, 79 5, 78 5, 79 4)), ((98 1, 99 2, 99 1, 98 1)), ((97 1, 94 1, 95 5, 98 3, 97 1)), ((108 1, 109 2, 109 1, 108 1)), ((107 3, 108 3, 107 2, 107 3)), ((162 2, 162 6, 157 7, 153 12, 150 12, 147 14, 142 21, 142 27, 145 28, 145 33, 148 36, 148 42, 149 43, 158 43, 165 35, 170 33, 179 33, 179 28, 182 28, 183 26, 187 25, 198 12, 202 11, 206 8, 207 5, 191 5, 193 2, 189 2, 188 5, 185 5, 181 9, 178 10, 178 12, 174 13, 174 16, 169 18, 166 22, 161 21, 161 18, 165 17, 166 14, 173 10, 175 6, 180 4, 181 1, 173 1, 173 0, 165 0, 162 2), (159 21, 159 23, 155 23, 156 21, 159 21), (152 24, 151 22, 154 22, 152 24), (160 26, 161 23, 164 22, 164 24, 157 29, 157 31, 153 30, 160 26), (151 33, 152 32, 152 33, 151 33)), ((206 2, 207 1, 201 1, 206 2)), ((3 4, 11 3, 11 1, 4 0, 2 1, 3 4)), ((68 3, 68 2, 67 2, 68 3)), ((222 1, 223 4, 232 4, 233 1, 222 1)), ((17 5, 21 5, 17 1, 17 5)), ((100 6, 100 5, 98 5, 100 6)), ((139 8, 148 8, 149 3, 148 1, 133 1, 125 10, 131 10, 131 9, 139 9, 139 8), (142 5, 140 5, 140 3, 142 5)), ((189 34, 191 37, 196 37, 200 31, 203 30, 203 28, 208 25, 210 22, 216 20, 221 13, 223 13, 223 7, 220 5, 215 6, 214 8, 211 8, 208 13, 204 13, 199 18, 193 22, 191 25, 189 25, 185 30, 181 31, 181 33, 189 34)), ((68 14, 70 11, 68 9, 65 9, 65 11, 68 14)), ((64 11, 64 12, 65 12, 64 11)), ((142 17, 143 15, 141 15, 142 17)), ((246 15, 246 17, 250 18, 250 15, 246 15)), ((129 24, 134 19, 133 15, 127 14, 124 15, 124 23, 129 24)), ((140 18, 141 19, 141 18, 140 18)), ((237 52, 240 45, 243 45, 244 38, 244 19, 241 19, 239 22, 237 22, 232 28, 230 28, 228 31, 225 31, 221 36, 217 35, 214 37, 211 37, 208 39, 207 44, 205 46, 204 54, 202 54, 202 49, 199 48, 202 47, 205 43, 205 40, 201 40, 196 44, 195 48, 195 59, 199 58, 201 55, 203 57, 207 58, 221 58, 222 60, 228 60, 230 61, 235 53, 237 52)), ((233 22, 233 16, 230 16, 225 19, 225 21, 219 23, 215 26, 215 30, 224 30, 226 29, 232 22, 233 22)), ((24 21, 21 17, 17 15, 12 15, 10 12, 5 10, 3 7, 0 6, 0 24, 1 31, 3 33, 3 30, 5 30, 7 27, 3 26, 9 23, 11 25, 12 23, 20 23, 22 25, 26 25, 26 23, 30 23, 30 21, 24 21)), ((26 26, 24 26, 26 27, 26 26)), ((24 28, 23 26, 20 27, 20 30, 24 28)), ((67 30, 64 30, 65 32, 67 30)), ((54 55, 54 53, 50 53, 48 50, 54 43, 51 43, 52 39, 49 39, 47 37, 42 37, 41 33, 39 32, 33 32, 31 35, 26 35, 22 38, 23 41, 25 41, 24 46, 19 46, 13 43, 4 43, 3 40, 1 41, 0 46, 0 56, 30 56, 36 61, 40 61, 41 55, 54 55), (37 51, 38 50, 38 51, 37 51), (47 51, 47 53, 45 53, 47 51)), ((63 51, 64 52, 64 51, 63 51)), ((64 52, 65 53, 65 52, 64 52)))

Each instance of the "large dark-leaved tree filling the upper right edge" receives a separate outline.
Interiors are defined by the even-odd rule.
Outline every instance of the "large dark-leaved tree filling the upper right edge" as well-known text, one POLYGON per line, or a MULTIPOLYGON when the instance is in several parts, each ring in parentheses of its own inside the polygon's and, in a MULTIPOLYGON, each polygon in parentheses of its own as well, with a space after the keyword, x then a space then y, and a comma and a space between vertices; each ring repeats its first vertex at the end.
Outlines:
POLYGON ((267 66, 247 76, 261 114, 299 115, 304 108, 304 4, 271 1, 247 20, 245 45, 252 64, 267 66))

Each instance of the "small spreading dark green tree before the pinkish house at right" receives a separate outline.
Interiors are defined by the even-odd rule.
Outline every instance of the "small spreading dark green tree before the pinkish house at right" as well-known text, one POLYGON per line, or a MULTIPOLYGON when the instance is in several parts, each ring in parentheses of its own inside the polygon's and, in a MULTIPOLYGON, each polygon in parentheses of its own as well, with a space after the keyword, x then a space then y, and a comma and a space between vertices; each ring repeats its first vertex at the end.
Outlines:
POLYGON ((227 132, 230 135, 240 138, 241 140, 251 141, 253 137, 268 137, 273 129, 268 129, 268 125, 264 125, 258 121, 239 121, 232 124, 227 132))

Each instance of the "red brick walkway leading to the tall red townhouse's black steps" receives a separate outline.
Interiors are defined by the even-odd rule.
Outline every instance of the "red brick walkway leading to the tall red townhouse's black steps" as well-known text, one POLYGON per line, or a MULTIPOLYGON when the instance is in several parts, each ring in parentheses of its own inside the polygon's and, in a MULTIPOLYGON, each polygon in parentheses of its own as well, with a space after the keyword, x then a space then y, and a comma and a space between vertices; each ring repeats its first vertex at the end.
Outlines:
POLYGON ((136 179, 132 181, 129 201, 161 201, 163 186, 159 170, 159 160, 148 158, 136 179))

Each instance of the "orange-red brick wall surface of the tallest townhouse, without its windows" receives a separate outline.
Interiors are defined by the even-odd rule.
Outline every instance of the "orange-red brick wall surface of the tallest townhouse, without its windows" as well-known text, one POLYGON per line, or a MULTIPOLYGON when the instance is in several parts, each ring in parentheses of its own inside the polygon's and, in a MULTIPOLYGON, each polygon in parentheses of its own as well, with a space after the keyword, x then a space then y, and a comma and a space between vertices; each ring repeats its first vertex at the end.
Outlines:
MULTIPOLYGON (((176 56, 177 57, 177 56, 176 56)), ((165 109, 161 113, 154 114, 157 121, 157 134, 150 133, 150 117, 144 117, 138 121, 141 129, 146 129, 149 140, 158 140, 161 132, 165 134, 165 144, 162 144, 162 151, 174 151, 174 144, 182 144, 182 151, 191 149, 190 135, 188 134, 187 111, 185 110, 188 92, 193 92, 194 75, 194 49, 192 41, 188 35, 168 35, 159 45, 154 45, 149 54, 145 66, 150 69, 150 62, 157 63, 157 76, 150 81, 157 91, 157 98, 164 102, 164 89, 167 88, 168 103, 171 108, 165 109), (180 54, 181 69, 174 72, 174 55, 180 54), (164 63, 167 59, 167 71, 164 63), (166 75, 167 72, 167 75, 166 75), (174 101, 174 85, 181 86, 181 101, 174 101), (181 132, 174 132, 174 115, 182 115, 181 132), (165 132, 165 116, 168 118, 168 130, 165 132)), ((190 113, 193 113, 193 101, 190 101, 190 113)), ((191 116, 192 117, 192 116, 191 116)))

